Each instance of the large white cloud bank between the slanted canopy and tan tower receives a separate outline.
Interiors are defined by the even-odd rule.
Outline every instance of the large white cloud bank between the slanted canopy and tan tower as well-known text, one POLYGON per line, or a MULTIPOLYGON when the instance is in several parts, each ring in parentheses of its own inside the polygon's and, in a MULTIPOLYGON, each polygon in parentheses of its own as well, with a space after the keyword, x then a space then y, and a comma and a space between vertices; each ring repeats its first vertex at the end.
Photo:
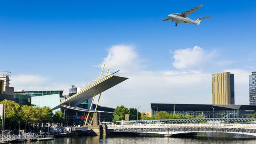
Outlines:
MULTIPOLYGON (((200 47, 194 49, 202 51, 200 47)), ((211 74, 198 70, 143 70, 134 48, 124 45, 112 46, 104 61, 110 68, 120 68, 121 75, 129 79, 104 92, 100 105, 141 105, 142 111, 148 111, 150 103, 211 103, 211 74), (130 68, 136 71, 131 73, 130 68)))

